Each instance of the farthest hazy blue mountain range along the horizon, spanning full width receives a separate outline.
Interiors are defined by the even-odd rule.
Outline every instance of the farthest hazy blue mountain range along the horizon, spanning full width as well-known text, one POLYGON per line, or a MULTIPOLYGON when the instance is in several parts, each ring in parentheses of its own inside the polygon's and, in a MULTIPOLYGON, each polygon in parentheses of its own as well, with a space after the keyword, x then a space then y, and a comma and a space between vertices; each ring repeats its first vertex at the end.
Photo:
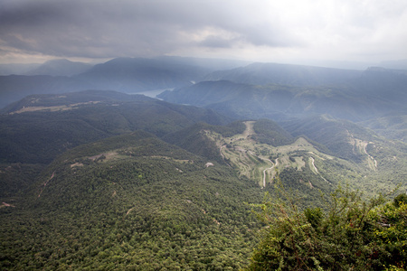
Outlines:
MULTIPOLYGON (((0 107, 31 94, 86 89, 137 93, 152 89, 188 87, 205 80, 230 80, 255 86, 318 88, 324 86, 339 89, 338 92, 346 92, 347 89, 353 88, 347 91, 350 93, 372 87, 376 91, 380 85, 383 89, 386 88, 385 84, 393 80, 393 85, 387 89, 392 91, 392 95, 400 94, 398 89, 404 84, 405 79, 392 78, 392 74, 393 77, 402 77, 400 71, 397 75, 392 70, 371 70, 372 72, 375 74, 369 77, 368 72, 361 70, 178 57, 119 58, 95 66, 55 60, 37 65, 20 74, 0 76, 0 107), (29 77, 26 77, 27 75, 29 77)), ((379 98, 383 98, 383 95, 379 98)))

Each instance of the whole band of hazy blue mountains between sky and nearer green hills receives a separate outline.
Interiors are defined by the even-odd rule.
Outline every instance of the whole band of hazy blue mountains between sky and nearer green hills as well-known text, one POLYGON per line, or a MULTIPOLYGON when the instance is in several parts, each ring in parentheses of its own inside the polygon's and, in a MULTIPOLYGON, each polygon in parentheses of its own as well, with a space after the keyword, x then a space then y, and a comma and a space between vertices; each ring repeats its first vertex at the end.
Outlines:
POLYGON ((285 120, 328 114, 380 128, 381 135, 406 140, 405 70, 340 70, 278 63, 159 57, 119 58, 95 66, 48 61, 31 74, 0 76, 0 107, 32 94, 86 89, 139 93, 166 91, 169 102, 213 108, 234 118, 285 120), (54 76, 52 76, 52 75, 54 76), (59 76, 55 76, 59 75, 59 76), (63 76, 60 76, 63 75, 63 76), (69 76, 68 76, 69 75, 69 76), (376 123, 376 119, 381 124, 376 123), (403 119, 403 118, 401 118, 403 119), (383 122, 388 123, 383 123, 383 122))

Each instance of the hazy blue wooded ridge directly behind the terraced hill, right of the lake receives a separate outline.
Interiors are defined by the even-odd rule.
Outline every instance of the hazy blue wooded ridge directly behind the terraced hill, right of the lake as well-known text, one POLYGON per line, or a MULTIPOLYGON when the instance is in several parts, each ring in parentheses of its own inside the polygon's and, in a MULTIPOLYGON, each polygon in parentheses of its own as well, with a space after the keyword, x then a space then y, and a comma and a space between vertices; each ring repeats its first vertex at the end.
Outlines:
POLYGON ((268 117, 275 120, 329 114, 361 121, 405 107, 397 99, 383 99, 373 92, 351 91, 349 88, 259 86, 220 80, 166 91, 158 97, 173 103, 213 108, 236 118, 268 117))

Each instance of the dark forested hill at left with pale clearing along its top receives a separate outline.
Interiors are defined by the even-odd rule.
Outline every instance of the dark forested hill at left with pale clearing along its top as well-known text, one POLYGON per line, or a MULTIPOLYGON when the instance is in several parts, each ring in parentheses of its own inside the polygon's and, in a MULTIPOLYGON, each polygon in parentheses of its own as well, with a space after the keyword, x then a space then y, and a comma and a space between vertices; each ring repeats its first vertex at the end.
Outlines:
POLYGON ((36 95, 6 110, 0 116, 3 163, 49 163, 73 146, 137 129, 163 136, 196 122, 230 121, 211 109, 111 91, 36 95))

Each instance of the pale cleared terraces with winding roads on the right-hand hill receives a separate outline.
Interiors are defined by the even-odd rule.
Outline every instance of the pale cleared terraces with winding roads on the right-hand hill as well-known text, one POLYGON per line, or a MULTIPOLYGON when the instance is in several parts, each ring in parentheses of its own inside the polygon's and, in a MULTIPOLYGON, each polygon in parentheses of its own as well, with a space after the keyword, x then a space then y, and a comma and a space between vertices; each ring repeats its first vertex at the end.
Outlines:
MULTIPOLYGON (((374 145, 374 142, 358 139, 349 131, 347 144, 351 152, 361 156, 358 164, 321 152, 303 136, 293 138, 286 145, 260 142, 260 135, 254 129, 256 121, 243 123, 246 128, 237 135, 224 136, 213 129, 204 129, 201 133, 215 143, 225 164, 237 170, 241 176, 254 180, 260 187, 272 183, 276 173, 292 171, 298 174, 298 180, 292 176, 292 182, 308 185, 309 188, 335 187, 338 182, 346 180, 355 180, 353 183, 357 186, 357 183, 366 182, 368 175, 379 170, 380 163, 367 149, 372 151, 381 147, 374 145)), ((385 171, 385 168, 381 167, 381 170, 385 171)))

